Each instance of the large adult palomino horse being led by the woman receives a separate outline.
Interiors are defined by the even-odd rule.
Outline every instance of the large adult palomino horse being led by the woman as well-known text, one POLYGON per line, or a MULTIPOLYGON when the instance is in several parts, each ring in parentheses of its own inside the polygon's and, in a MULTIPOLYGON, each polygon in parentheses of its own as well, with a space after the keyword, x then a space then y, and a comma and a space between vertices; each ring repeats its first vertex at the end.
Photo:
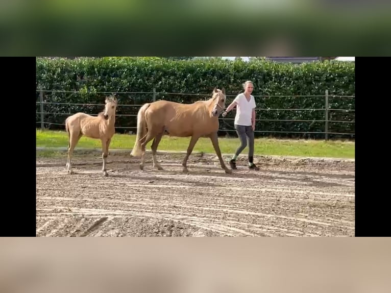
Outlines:
POLYGON ((152 158, 153 166, 159 170, 163 168, 157 162, 156 151, 164 134, 177 137, 191 136, 187 154, 183 159, 183 172, 187 170, 187 160, 200 137, 209 137, 220 165, 226 173, 232 171, 224 164, 218 145, 218 115, 224 110, 226 95, 222 90, 213 89, 211 99, 197 101, 192 104, 180 104, 170 101, 156 101, 144 104, 137 114, 137 135, 132 156, 141 156, 140 169, 144 167, 145 145, 153 139, 152 158))

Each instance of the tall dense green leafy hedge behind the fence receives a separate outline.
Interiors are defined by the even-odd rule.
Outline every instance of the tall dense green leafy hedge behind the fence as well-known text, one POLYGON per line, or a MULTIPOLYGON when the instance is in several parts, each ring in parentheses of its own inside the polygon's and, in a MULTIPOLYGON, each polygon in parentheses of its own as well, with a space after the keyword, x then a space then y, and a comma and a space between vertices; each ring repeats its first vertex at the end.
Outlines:
MULTIPOLYGON (((273 110, 273 109, 322 109, 325 107, 325 90, 329 91, 331 109, 355 109, 355 65, 350 62, 324 61, 303 64, 276 63, 265 60, 252 62, 228 60, 167 60, 157 57, 105 57, 80 59, 45 59, 37 58, 36 67, 37 95, 42 87, 44 102, 44 121, 52 123, 51 129, 64 129, 67 113, 84 111, 98 113, 103 108, 105 93, 99 92, 144 92, 119 93, 117 114, 136 114, 139 106, 153 101, 153 88, 156 89, 156 100, 164 99, 181 103, 192 103, 207 99, 214 86, 225 87, 227 100, 230 103, 236 94, 242 92, 241 84, 246 80, 254 82, 253 95, 258 110, 258 119, 311 120, 307 121, 257 121, 257 130, 276 131, 258 133, 258 136, 277 137, 313 137, 323 138, 324 134, 301 134, 282 132, 323 132, 325 123, 324 110, 273 110), (58 90, 58 92, 56 92, 58 90), (69 92, 61 92, 69 91, 69 92), (80 91, 73 93, 72 91, 80 91), (149 92, 149 93, 145 93, 149 92), (191 93, 183 95, 175 93, 191 93), (194 95, 199 94, 199 95, 194 95), (286 95, 273 97, 273 95, 286 95), (299 97, 295 97, 298 95, 299 97), (305 95, 305 97, 300 96, 305 95), (266 97, 262 97, 266 96, 266 97), (269 97, 271 96, 271 97, 269 97), (68 105, 101 104, 99 106, 68 105)), ((228 106, 228 104, 227 104, 228 106)), ((40 111, 37 104, 37 112, 40 111)), ((226 119, 233 129, 232 111, 226 119)), ((330 120, 354 120, 354 111, 329 111, 330 120)), ((36 115, 37 122, 40 114, 36 115)), ((45 125, 48 127, 48 125, 45 125)), ((117 117, 118 132, 120 127, 135 127, 135 116, 117 117)), ((37 124, 39 127, 39 124, 37 124)), ((221 121, 221 129, 228 127, 221 121)), ((354 123, 329 123, 329 132, 354 133, 354 123)), ((133 131, 135 129, 132 129, 133 131)), ((127 130, 129 131, 129 129, 127 130)), ((220 134, 225 134, 222 132, 220 134)), ((235 135, 230 132, 230 135, 235 135)), ((352 138, 354 135, 329 135, 330 138, 352 138)))

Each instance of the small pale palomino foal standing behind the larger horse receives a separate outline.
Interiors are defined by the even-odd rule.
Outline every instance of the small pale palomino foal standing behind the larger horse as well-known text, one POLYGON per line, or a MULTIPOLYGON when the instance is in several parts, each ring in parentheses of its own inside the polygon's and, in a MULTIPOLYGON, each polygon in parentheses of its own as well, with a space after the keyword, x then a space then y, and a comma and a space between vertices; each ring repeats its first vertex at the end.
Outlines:
POLYGON ((73 174, 71 168, 72 154, 79 139, 85 135, 102 141, 102 171, 104 176, 108 176, 106 171, 106 159, 109 154, 110 141, 115 132, 114 125, 117 99, 114 96, 108 96, 106 97, 105 103, 105 111, 99 113, 97 116, 76 113, 66 118, 65 129, 69 137, 68 159, 66 161, 68 173, 73 174))

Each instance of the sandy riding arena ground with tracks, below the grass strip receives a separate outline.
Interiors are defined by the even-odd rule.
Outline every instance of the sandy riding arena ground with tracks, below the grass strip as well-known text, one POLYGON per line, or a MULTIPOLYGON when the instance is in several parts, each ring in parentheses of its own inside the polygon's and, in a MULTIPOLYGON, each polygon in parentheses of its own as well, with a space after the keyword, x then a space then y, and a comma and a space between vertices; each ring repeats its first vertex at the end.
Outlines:
MULTIPOLYGON (((351 160, 239 157, 225 174, 215 155, 160 155, 144 170, 129 153, 37 156, 37 236, 354 236, 351 160)), ((230 157, 225 156, 227 161, 230 157)))

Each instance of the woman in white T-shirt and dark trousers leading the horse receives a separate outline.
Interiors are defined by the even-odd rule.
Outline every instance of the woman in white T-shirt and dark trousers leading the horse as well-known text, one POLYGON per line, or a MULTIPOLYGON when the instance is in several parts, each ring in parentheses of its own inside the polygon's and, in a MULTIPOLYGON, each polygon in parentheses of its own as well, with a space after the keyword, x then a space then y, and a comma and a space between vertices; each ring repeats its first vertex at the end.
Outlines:
POLYGON ((254 85, 251 81, 243 84, 244 92, 239 93, 233 102, 222 113, 223 117, 227 115, 236 106, 235 115, 235 130, 240 139, 240 145, 237 148, 234 156, 229 161, 232 169, 236 168, 237 156, 247 147, 247 139, 249 141, 249 169, 259 170, 253 163, 254 156, 254 130, 255 130, 255 100, 251 95, 254 85))

